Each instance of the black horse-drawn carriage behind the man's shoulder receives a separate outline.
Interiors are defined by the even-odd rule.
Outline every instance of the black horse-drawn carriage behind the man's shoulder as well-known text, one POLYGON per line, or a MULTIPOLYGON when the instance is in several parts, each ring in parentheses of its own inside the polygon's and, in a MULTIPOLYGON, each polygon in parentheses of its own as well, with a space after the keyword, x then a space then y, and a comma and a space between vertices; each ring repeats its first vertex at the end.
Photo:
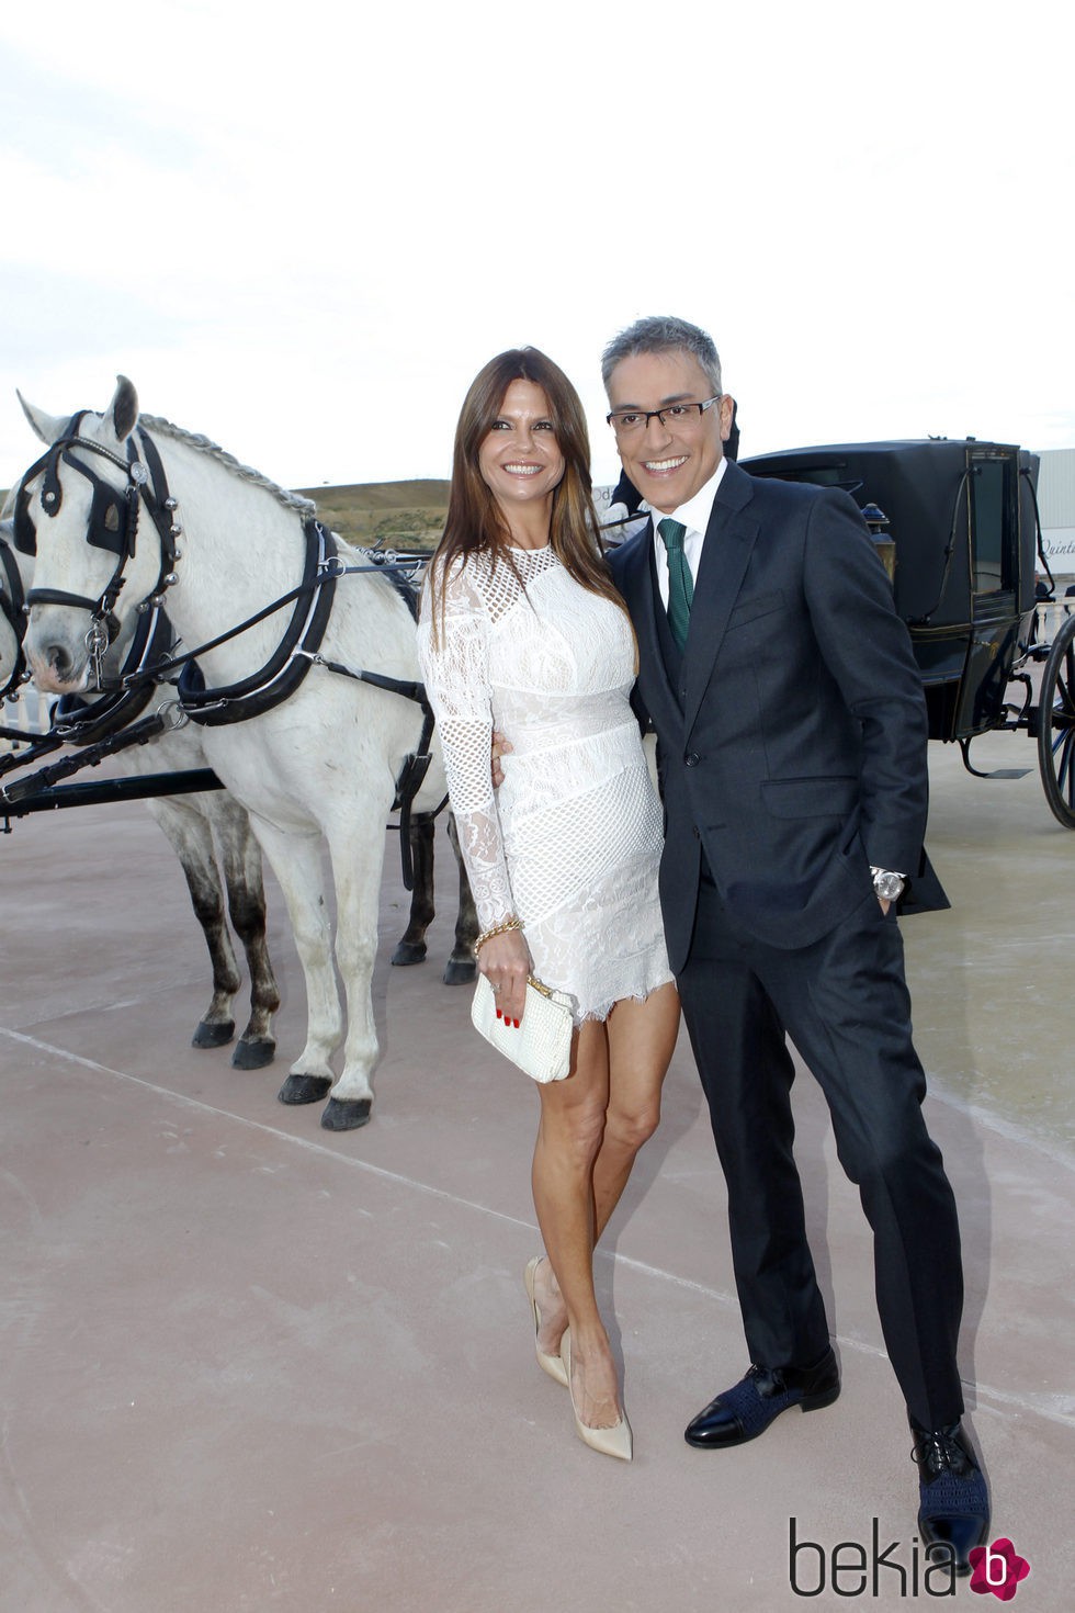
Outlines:
POLYGON ((1022 729, 1038 742, 1049 808, 1075 829, 1075 616, 1062 618, 1051 645, 1040 640, 1054 586, 1041 552, 1038 456, 927 439, 791 448, 743 468, 851 494, 911 632, 930 739, 956 742, 978 774, 972 740, 1022 729))

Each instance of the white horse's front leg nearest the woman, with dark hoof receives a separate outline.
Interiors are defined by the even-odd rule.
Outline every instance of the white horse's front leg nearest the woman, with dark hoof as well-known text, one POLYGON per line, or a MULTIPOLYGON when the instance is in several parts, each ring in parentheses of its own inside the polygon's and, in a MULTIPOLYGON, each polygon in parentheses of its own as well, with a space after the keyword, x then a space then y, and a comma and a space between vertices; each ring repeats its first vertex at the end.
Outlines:
MULTIPOLYGON (((385 803, 387 805, 387 803, 385 803)), ((374 1024, 372 977, 377 960, 377 908, 384 868, 384 810, 366 810, 366 829, 350 824, 332 839, 335 879, 335 958, 347 990, 343 1073, 332 1087, 321 1124, 326 1131, 364 1126, 374 1102, 371 1077, 380 1048, 374 1024)))

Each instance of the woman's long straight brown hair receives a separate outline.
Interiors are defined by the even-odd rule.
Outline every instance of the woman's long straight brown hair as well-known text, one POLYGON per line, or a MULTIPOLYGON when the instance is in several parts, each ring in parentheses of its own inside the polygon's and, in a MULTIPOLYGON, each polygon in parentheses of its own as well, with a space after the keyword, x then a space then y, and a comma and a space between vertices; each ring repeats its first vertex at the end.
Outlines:
POLYGON ((548 400, 556 444, 564 455, 564 474, 553 490, 550 519, 553 553, 583 589, 627 611, 598 547, 598 518, 590 482, 590 437, 579 394, 559 365, 537 347, 513 347, 479 369, 459 413, 448 519, 429 568, 434 589, 434 632, 437 621, 443 621, 445 579, 456 560, 466 565, 471 555, 488 552, 493 565, 503 560, 514 569, 508 548, 511 540, 508 523, 479 469, 479 450, 500 418, 504 394, 513 381, 530 381, 542 389, 548 400))

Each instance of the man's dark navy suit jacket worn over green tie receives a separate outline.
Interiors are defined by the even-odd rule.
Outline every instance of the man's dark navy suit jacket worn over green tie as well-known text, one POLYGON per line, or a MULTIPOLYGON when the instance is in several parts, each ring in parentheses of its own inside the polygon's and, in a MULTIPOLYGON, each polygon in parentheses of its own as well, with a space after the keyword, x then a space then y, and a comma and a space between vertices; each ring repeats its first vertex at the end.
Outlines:
POLYGON ((661 752, 672 968, 703 848, 732 918, 775 947, 833 929, 870 889, 870 863, 915 876, 917 907, 946 907, 922 848, 922 681, 854 502, 728 463, 680 668, 661 647, 651 544, 646 523, 611 565, 661 752))

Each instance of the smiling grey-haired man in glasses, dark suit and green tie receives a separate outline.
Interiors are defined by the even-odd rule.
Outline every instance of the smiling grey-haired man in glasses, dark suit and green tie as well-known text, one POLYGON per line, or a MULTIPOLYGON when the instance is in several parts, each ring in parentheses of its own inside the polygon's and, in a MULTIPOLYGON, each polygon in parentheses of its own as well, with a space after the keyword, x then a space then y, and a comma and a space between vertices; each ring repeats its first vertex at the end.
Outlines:
POLYGON ((919 907, 948 905, 922 850, 927 719, 907 632, 846 494, 754 481, 725 458, 733 405, 704 331, 641 319, 608 345, 603 374, 650 508, 611 563, 658 734, 669 960, 754 1363, 687 1440, 738 1445, 840 1394, 791 1152, 787 1027, 874 1229, 920 1536, 967 1573, 988 1492, 959 1421, 959 1227, 922 1119, 894 913, 904 886, 919 907))

